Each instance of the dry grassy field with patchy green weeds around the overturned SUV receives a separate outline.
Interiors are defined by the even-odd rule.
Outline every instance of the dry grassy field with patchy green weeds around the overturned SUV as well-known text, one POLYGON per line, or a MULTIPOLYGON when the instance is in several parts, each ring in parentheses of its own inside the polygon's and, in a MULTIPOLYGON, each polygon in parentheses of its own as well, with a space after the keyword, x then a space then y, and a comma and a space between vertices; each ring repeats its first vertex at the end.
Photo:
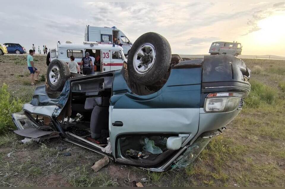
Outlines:
MULTIPOLYGON (((41 74, 45 73, 45 57, 34 59, 41 74)), ((0 186, 132 186, 133 180, 144 177, 147 182, 143 185, 152 187, 284 186, 285 61, 243 60, 252 71, 251 94, 238 117, 223 134, 213 138, 191 166, 157 173, 111 162, 95 173, 90 167, 102 155, 60 138, 20 144, 17 141, 22 138, 7 122, 11 125, 6 125, 7 131, 0 136, 0 186), (59 145, 67 149, 58 151, 59 145), (72 155, 64 156, 64 152, 72 155)), ((35 89, 29 84, 25 61, 25 56, 0 56, 4 68, 1 86, 8 85, 9 101, 18 104, 28 102, 35 89)), ((11 102, 2 106, 19 109, 11 102)), ((1 113, 9 114, 6 110, 1 113)))

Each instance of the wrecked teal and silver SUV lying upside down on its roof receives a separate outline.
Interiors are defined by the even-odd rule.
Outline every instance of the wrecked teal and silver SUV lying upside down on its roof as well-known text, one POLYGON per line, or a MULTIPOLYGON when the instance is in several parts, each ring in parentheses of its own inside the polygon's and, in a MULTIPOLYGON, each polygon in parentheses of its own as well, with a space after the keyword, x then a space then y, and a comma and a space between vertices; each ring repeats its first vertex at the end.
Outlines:
POLYGON ((145 33, 121 70, 60 75, 58 95, 39 86, 12 118, 18 131, 56 132, 117 163, 165 171, 190 164, 238 115, 249 75, 233 55, 183 60, 163 36, 145 33))

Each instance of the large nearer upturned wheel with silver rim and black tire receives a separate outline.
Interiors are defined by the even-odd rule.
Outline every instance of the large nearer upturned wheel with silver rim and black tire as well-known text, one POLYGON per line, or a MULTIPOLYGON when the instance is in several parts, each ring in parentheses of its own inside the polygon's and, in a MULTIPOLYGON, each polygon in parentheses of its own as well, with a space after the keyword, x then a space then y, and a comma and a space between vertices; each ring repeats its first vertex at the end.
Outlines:
POLYGON ((129 51, 129 77, 135 83, 152 85, 165 75, 170 61, 171 49, 166 38, 158 33, 145 33, 129 51))

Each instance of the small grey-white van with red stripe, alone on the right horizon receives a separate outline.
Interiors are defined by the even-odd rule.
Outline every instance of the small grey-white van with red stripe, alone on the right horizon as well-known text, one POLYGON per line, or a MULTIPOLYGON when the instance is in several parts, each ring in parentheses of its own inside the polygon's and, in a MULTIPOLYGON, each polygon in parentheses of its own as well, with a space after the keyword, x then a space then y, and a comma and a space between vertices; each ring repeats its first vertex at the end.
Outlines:
POLYGON ((232 54, 238 56, 241 54, 242 46, 237 42, 216 41, 210 46, 209 53, 215 54, 232 54))

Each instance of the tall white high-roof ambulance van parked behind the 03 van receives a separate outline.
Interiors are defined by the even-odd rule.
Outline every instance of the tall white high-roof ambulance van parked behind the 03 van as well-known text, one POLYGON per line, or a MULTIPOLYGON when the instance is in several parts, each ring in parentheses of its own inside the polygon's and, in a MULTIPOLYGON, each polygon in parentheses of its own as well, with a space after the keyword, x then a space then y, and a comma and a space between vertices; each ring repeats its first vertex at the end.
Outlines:
POLYGON ((126 35, 113 26, 109 27, 94 27, 86 26, 85 28, 85 41, 96 41, 98 43, 104 43, 112 45, 115 43, 115 38, 117 38, 121 46, 123 47, 124 54, 127 55, 132 47, 132 42, 126 37, 126 35))

